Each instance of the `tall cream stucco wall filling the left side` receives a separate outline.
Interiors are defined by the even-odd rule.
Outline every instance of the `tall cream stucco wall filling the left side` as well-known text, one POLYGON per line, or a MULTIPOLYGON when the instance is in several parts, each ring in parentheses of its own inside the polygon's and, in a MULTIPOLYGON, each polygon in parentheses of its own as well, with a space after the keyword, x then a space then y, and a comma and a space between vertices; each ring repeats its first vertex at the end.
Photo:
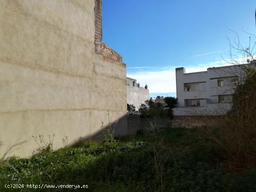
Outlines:
POLYGON ((126 67, 95 53, 94 33, 94 0, 0 1, 0 156, 20 141, 10 155, 29 156, 33 135, 54 148, 94 135, 108 110, 126 134, 126 67))

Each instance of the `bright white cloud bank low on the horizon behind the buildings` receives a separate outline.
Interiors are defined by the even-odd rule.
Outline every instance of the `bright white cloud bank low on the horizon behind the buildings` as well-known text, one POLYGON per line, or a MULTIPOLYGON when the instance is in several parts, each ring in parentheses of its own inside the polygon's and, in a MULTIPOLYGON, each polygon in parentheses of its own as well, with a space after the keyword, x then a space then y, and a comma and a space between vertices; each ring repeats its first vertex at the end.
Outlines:
MULTIPOLYGON (((225 61, 211 62, 208 64, 198 64, 186 66, 186 73, 207 71, 209 67, 228 66, 225 61)), ((180 66, 177 66, 180 67, 180 66)), ((148 85, 149 93, 173 93, 176 92, 175 67, 162 67, 161 71, 144 71, 139 73, 127 73, 127 76, 137 79, 141 86, 148 85)))

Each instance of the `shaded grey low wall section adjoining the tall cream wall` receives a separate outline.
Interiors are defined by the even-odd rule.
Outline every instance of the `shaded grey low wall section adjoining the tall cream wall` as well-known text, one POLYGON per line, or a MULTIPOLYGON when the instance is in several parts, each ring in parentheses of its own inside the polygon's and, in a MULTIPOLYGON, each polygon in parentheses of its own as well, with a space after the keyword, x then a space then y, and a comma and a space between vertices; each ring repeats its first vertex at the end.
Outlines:
POLYGON ((136 134, 137 131, 145 131, 152 126, 168 127, 171 125, 169 118, 142 118, 139 115, 128 115, 127 116, 127 130, 128 135, 136 134))

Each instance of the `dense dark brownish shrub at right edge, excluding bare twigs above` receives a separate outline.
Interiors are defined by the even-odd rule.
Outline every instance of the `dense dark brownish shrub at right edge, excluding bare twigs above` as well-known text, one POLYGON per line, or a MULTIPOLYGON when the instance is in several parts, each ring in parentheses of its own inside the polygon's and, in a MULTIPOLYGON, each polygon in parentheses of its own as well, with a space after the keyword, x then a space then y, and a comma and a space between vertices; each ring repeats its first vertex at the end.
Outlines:
POLYGON ((256 167, 256 71, 248 66, 242 70, 243 79, 236 85, 222 127, 204 129, 209 139, 226 151, 226 167, 236 171, 256 167))

